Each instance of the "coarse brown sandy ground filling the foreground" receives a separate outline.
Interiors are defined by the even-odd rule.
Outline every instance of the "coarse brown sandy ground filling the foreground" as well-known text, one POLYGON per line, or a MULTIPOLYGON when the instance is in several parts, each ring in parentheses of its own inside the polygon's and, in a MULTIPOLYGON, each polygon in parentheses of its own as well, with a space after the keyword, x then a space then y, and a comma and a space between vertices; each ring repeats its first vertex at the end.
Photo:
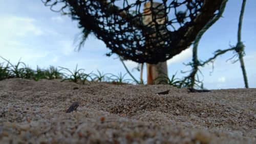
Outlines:
POLYGON ((256 89, 7 79, 0 143, 256 143, 256 89))

